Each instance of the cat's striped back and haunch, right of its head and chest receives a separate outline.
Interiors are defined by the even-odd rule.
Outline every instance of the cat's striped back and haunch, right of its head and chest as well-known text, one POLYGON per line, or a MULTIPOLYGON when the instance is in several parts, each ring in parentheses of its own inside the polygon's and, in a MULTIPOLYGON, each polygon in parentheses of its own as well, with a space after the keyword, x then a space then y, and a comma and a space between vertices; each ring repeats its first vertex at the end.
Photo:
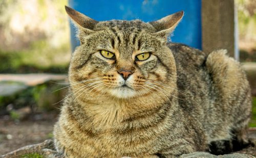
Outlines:
POLYGON ((205 53, 179 43, 167 46, 176 62, 180 107, 187 118, 195 119, 206 131, 208 143, 244 131, 250 119, 251 99, 240 63, 223 49, 205 53))

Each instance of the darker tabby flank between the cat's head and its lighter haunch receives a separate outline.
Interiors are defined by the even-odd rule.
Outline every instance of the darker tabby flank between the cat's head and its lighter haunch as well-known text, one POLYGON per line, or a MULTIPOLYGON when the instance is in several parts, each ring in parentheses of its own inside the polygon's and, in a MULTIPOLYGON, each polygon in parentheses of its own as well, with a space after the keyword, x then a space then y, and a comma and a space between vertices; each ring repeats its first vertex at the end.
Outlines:
MULTIPOLYGON (((204 126, 202 120, 211 104, 212 80, 206 68, 207 54, 180 43, 167 43, 176 62, 178 102, 184 114, 204 126)), ((203 128, 203 127, 202 127, 203 128)))

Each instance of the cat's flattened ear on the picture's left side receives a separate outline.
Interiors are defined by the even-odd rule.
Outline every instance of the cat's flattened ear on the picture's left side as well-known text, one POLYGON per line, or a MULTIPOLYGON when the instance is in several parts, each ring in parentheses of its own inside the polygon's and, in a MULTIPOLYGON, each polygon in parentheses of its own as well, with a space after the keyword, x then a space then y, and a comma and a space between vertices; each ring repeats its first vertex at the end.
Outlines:
POLYGON ((77 27, 84 33, 90 34, 93 33, 93 28, 98 21, 83 15, 82 13, 65 6, 66 12, 69 14, 70 18, 77 25, 77 27))

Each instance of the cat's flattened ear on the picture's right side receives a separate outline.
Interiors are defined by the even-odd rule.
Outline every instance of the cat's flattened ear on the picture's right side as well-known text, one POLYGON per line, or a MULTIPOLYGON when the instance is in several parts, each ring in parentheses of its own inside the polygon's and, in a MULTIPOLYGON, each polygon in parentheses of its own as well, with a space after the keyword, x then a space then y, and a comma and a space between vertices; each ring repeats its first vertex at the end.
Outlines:
POLYGON ((156 34, 167 37, 177 27, 183 17, 184 12, 180 11, 172 15, 165 16, 157 21, 151 21, 150 24, 156 29, 156 34))

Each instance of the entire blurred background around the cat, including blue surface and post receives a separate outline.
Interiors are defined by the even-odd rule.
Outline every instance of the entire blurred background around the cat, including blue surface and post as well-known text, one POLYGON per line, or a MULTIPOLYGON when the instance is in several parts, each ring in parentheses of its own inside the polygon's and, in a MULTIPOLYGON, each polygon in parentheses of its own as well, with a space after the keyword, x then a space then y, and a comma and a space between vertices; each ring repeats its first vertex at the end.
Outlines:
POLYGON ((256 0, 2 0, 0 155, 53 137, 70 57, 79 45, 65 5, 95 20, 151 21, 184 10, 172 41, 205 52, 226 48, 242 62, 253 95, 250 127, 256 127, 256 0))

